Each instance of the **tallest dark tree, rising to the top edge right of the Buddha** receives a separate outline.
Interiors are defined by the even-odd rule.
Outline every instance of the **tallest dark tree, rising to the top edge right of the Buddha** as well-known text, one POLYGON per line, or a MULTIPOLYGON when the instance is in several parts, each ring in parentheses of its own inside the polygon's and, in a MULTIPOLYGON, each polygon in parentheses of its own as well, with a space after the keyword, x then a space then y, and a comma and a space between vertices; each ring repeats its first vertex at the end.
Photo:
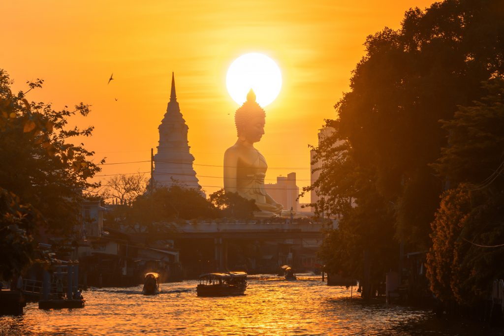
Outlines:
MULTIPOLYGON (((361 227, 357 242, 366 242, 373 223, 384 229, 382 239, 403 242, 405 251, 429 248, 445 186, 430 164, 448 147, 447 128, 438 120, 453 119, 457 106, 484 95, 482 81, 504 74, 502 17, 496 1, 446 0, 407 11, 399 30, 367 37, 350 91, 335 105, 337 118, 326 121, 335 131, 314 148, 314 161, 324 163, 320 178, 304 189, 318 189, 324 208, 342 215, 349 229, 361 227), (369 188, 362 189, 365 181, 369 188), (353 216, 351 201, 360 216, 353 216), (391 211, 395 232, 383 216, 391 211)), ((345 251, 362 263, 360 254, 345 251)), ((389 255, 375 257, 385 264, 389 255)))

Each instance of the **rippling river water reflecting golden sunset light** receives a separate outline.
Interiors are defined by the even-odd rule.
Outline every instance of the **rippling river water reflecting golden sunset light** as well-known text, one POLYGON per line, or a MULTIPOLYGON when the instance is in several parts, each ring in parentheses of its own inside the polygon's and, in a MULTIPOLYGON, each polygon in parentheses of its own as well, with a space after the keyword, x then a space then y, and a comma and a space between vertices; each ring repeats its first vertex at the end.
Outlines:
MULTIPOLYGON (((0 316, 1 335, 479 335, 501 330, 437 319, 428 310, 365 304, 351 289, 327 286, 320 277, 297 281, 249 276, 245 295, 196 296, 198 281, 90 289, 81 309, 38 309, 0 316)), ((354 287, 353 290, 356 288, 354 287)))

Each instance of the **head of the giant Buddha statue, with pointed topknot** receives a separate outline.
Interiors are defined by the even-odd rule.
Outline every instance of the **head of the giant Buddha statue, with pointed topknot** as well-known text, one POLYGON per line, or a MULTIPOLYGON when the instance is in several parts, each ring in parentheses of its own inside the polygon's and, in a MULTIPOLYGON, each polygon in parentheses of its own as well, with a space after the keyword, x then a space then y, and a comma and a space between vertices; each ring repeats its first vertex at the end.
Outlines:
POLYGON ((264 134, 265 120, 266 112, 256 102, 256 94, 250 89, 246 102, 234 114, 238 139, 251 144, 259 142, 264 134))

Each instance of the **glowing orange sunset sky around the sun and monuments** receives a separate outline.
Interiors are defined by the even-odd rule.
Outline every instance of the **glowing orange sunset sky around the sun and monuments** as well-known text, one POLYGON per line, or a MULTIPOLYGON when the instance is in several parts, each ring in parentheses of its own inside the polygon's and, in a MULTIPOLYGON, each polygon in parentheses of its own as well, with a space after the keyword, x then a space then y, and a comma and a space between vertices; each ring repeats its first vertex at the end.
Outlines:
MULTIPOLYGON (((224 151, 236 141, 238 105, 226 91, 227 68, 243 53, 265 53, 280 66, 283 87, 265 108, 266 135, 256 147, 270 167, 267 183, 294 171, 302 187, 310 178, 307 145, 317 143, 324 119, 335 117, 366 36, 399 28, 408 8, 431 3, 2 2, 0 68, 15 80, 15 91, 27 80, 45 80, 29 99, 56 109, 91 104, 87 118, 72 121, 95 126, 83 141, 107 163, 156 153, 174 71, 194 168, 208 195, 222 187, 224 151), (107 85, 111 73, 115 80, 107 85)), ((150 163, 106 165, 99 175, 137 171, 150 171, 150 163)))

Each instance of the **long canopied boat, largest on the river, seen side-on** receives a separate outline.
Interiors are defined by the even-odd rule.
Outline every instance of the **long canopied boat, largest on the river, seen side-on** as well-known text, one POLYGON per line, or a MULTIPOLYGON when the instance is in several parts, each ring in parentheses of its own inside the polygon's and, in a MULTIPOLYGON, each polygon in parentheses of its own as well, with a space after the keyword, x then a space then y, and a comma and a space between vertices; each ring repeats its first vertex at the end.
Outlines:
POLYGON ((243 295, 247 288, 245 272, 206 273, 200 276, 198 296, 243 295))

